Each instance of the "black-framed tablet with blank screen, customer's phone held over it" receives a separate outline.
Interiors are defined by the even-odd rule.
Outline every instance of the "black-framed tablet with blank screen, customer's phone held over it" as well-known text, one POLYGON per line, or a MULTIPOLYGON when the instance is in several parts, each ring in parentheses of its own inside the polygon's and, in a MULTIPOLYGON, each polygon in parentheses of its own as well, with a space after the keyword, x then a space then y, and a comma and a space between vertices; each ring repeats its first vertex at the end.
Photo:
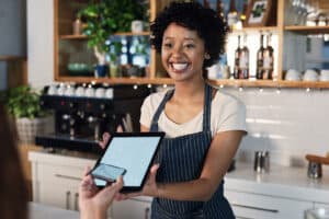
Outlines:
POLYGON ((103 154, 90 171, 97 186, 104 187, 123 175, 121 192, 140 191, 163 137, 164 132, 111 134, 103 154))

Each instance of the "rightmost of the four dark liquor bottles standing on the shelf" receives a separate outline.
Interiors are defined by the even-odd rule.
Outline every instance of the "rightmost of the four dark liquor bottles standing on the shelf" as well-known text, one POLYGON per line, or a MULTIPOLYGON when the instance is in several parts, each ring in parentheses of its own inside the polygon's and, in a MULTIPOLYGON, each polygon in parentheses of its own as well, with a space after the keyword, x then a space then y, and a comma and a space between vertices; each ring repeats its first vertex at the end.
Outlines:
POLYGON ((273 79, 274 49, 271 46, 272 34, 266 36, 266 46, 263 56, 263 79, 273 79))

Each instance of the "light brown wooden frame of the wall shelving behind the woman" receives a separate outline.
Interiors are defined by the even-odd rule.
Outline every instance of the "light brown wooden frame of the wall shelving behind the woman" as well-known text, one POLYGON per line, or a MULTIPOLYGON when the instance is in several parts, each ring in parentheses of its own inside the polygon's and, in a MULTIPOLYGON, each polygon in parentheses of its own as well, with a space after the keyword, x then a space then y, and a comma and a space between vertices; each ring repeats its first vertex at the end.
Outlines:
MULTIPOLYGON (((163 9, 172 0, 149 0, 150 5, 150 20, 152 21, 156 14, 163 9)), ((75 1, 79 2, 80 7, 87 3, 88 0, 75 1)), ((273 80, 209 80, 211 83, 219 87, 257 87, 257 88, 329 88, 329 82, 316 81, 285 81, 284 71, 287 70, 284 65, 286 56, 285 54, 294 53, 290 47, 286 47, 291 41, 287 34, 293 33, 297 35, 308 35, 313 33, 329 33, 329 26, 294 26, 290 25, 286 20, 291 15, 291 11, 287 10, 290 1, 277 0, 273 1, 273 10, 276 11, 276 22, 274 26, 263 27, 245 27, 239 31, 234 31, 231 34, 247 33, 259 34, 260 31, 271 32, 277 37, 277 46, 274 47, 276 53, 275 59, 275 77, 273 80)), ((94 62, 93 53, 87 48, 87 37, 82 35, 72 35, 72 22, 76 19, 77 7, 73 7, 72 1, 54 0, 55 8, 55 81, 64 82, 106 82, 106 83, 154 83, 154 84, 170 84, 172 81, 166 77, 167 73, 161 67, 159 55, 154 49, 150 51, 149 57, 149 74, 146 77, 120 77, 120 78, 94 78, 89 77, 72 77, 68 74, 67 64, 70 60, 80 60, 84 62, 94 62)), ((79 7, 78 7, 79 8, 79 7)), ((132 33, 121 33, 118 35, 129 36, 132 33)), ((148 32, 140 35, 147 36, 148 32)), ((292 39, 293 41, 293 39, 292 39)), ((257 42, 253 44, 259 46, 257 42)), ((228 49, 235 49, 229 47, 228 49)), ((295 54, 296 56, 298 54, 295 54)), ((294 56, 294 54, 293 54, 294 56)), ((298 57, 298 56, 297 56, 298 57)))

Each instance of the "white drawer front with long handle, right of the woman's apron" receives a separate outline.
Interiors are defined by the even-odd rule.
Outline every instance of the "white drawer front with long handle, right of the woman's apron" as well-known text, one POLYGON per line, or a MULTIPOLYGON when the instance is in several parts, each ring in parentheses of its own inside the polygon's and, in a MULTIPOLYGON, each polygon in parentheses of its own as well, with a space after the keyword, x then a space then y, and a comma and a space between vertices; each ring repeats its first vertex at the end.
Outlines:
POLYGON ((303 218, 311 201, 293 200, 266 195, 226 191, 236 217, 252 219, 303 218))

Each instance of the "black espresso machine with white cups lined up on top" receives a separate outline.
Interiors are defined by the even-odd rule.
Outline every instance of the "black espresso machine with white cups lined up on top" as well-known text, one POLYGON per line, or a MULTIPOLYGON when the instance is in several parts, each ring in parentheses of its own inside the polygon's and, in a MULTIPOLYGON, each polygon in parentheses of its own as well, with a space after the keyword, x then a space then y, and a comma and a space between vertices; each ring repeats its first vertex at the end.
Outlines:
POLYGON ((102 134, 139 131, 140 106, 152 92, 147 85, 56 84, 44 88, 41 104, 55 116, 55 132, 36 136, 50 149, 100 153, 102 134))

